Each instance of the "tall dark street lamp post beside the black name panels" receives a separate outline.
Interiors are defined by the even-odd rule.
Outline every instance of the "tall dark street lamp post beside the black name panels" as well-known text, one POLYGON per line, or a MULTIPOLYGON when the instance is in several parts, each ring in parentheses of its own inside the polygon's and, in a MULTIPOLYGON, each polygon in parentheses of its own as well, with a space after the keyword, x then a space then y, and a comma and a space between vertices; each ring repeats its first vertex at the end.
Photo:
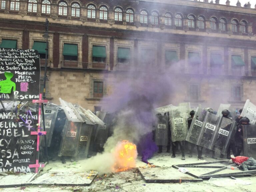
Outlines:
MULTIPOLYGON (((46 91, 46 70, 47 70, 47 56, 48 56, 48 38, 50 37, 49 34, 48 34, 48 25, 49 25, 49 21, 48 19, 46 18, 45 20, 45 33, 43 34, 43 37, 45 38, 46 40, 46 48, 45 48, 45 65, 44 65, 44 84, 43 84, 43 99, 46 98, 46 95, 45 95, 45 91, 46 91)), ((44 128, 44 131, 45 131, 45 120, 44 120, 44 105, 42 105, 42 117, 43 117, 43 128, 44 128)), ((44 145, 45 145, 45 149, 44 149, 44 152, 45 152, 45 156, 46 156, 46 161, 47 163, 49 163, 49 158, 48 158, 48 150, 47 150, 47 140, 46 140, 46 135, 44 135, 44 145)))

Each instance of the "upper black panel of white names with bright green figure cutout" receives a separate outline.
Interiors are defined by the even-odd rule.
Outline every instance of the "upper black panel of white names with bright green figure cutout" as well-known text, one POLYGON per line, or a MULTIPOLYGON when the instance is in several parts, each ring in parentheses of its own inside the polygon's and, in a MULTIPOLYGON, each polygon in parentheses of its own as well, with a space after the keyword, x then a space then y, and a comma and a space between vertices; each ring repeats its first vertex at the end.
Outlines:
POLYGON ((39 99, 39 85, 37 50, 0 48, 0 100, 39 99))

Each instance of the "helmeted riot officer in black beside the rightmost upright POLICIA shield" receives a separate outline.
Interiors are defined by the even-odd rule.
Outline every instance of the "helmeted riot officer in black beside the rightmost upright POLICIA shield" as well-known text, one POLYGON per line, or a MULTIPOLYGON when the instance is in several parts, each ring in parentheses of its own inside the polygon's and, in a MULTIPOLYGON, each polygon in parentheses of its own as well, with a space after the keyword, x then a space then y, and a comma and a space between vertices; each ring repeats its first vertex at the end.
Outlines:
POLYGON ((235 142, 237 146, 236 156, 240 156, 240 153, 244 148, 243 125, 250 125, 250 120, 247 117, 242 117, 240 119, 239 125, 237 126, 237 129, 236 129, 236 134, 235 134, 235 142))

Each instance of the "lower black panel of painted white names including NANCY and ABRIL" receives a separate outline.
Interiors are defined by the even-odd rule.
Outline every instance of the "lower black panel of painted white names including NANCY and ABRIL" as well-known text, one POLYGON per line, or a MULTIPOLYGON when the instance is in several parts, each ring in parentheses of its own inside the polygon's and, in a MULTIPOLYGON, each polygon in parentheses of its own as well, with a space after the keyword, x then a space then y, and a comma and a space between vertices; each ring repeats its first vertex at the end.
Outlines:
POLYGON ((1 101, 0 103, 0 173, 33 172, 36 163, 38 104, 1 101))

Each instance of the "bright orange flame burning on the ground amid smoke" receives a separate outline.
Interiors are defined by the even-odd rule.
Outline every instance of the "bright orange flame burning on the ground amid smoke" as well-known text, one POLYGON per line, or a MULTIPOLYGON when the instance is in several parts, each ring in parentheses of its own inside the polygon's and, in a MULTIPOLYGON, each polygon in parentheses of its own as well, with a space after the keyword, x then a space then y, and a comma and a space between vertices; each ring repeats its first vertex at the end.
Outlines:
POLYGON ((135 144, 123 140, 118 143, 115 148, 115 165, 116 172, 126 171, 136 166, 135 160, 138 156, 137 147, 135 144))

